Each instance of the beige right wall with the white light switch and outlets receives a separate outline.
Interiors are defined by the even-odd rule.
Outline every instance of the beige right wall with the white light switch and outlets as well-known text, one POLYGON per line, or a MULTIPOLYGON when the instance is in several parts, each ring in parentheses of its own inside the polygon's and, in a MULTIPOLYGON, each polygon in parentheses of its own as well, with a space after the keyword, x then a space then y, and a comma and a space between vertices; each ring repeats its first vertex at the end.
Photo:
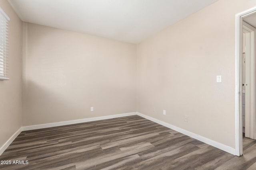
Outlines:
POLYGON ((138 44, 137 111, 234 148, 235 14, 254 6, 219 0, 138 44))

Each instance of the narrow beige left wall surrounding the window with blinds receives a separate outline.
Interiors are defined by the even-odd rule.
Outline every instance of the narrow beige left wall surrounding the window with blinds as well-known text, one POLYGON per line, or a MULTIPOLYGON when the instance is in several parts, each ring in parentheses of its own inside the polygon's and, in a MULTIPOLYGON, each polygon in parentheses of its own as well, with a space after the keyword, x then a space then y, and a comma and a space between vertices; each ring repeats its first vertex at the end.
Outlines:
POLYGON ((10 80, 0 80, 0 148, 21 127, 22 21, 7 0, 0 7, 9 16, 10 80))

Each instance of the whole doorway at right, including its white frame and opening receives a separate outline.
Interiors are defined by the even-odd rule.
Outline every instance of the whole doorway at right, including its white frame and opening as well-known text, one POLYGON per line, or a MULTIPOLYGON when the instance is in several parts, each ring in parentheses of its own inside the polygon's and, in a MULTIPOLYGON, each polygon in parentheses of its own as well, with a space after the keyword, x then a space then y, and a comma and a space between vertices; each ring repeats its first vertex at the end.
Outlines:
POLYGON ((243 133, 256 139, 256 7, 236 14, 236 155, 243 154, 243 133))

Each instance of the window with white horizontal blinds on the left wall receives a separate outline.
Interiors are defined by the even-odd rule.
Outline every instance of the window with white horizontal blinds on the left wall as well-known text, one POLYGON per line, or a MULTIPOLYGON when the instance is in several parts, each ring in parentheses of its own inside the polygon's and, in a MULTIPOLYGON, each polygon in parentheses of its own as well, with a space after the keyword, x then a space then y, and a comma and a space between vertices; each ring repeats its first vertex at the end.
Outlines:
POLYGON ((8 76, 8 21, 10 18, 0 8, 0 80, 8 76))

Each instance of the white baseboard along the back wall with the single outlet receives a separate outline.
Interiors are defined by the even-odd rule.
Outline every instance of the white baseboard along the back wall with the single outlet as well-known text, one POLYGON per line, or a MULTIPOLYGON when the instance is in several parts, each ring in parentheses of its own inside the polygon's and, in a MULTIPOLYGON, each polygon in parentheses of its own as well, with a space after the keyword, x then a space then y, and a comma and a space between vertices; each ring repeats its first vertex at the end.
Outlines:
POLYGON ((132 116, 132 115, 136 115, 136 112, 123 113, 123 114, 118 114, 118 115, 92 117, 92 118, 86 118, 86 119, 76 119, 76 120, 71 120, 71 121, 61 121, 61 122, 56 122, 56 123, 46 123, 46 124, 41 124, 41 125, 24 126, 24 127, 22 127, 22 131, 29 131, 29 130, 34 130, 34 129, 42 129, 42 128, 47 128, 47 127, 56 127, 56 126, 63 126, 63 125, 72 125, 72 124, 76 124, 76 123, 84 123, 84 122, 89 122, 89 121, 112 119, 112 118, 132 116))

